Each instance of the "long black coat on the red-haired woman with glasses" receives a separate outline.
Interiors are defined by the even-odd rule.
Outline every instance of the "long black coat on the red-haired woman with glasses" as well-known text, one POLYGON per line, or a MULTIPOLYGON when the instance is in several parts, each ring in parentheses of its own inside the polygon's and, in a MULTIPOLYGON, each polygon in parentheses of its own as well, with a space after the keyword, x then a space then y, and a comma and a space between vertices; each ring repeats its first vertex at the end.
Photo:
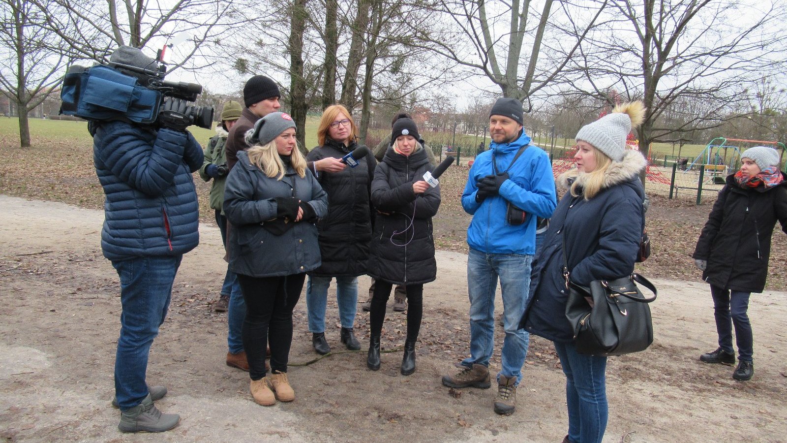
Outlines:
MULTIPOLYGON (((327 139, 309 152, 309 162, 327 157, 342 158, 357 148, 327 139)), ((320 172, 317 181, 328 193, 328 214, 317 223, 323 264, 310 274, 321 277, 357 277, 366 274, 371 240, 369 192, 377 161, 371 154, 358 159, 358 166, 342 172, 320 172)))

